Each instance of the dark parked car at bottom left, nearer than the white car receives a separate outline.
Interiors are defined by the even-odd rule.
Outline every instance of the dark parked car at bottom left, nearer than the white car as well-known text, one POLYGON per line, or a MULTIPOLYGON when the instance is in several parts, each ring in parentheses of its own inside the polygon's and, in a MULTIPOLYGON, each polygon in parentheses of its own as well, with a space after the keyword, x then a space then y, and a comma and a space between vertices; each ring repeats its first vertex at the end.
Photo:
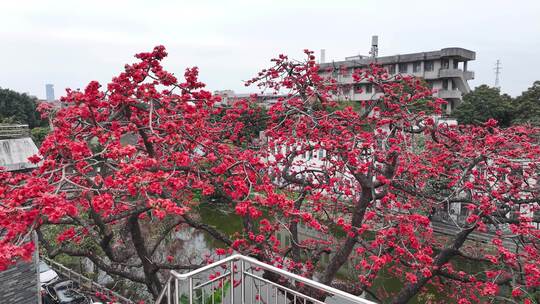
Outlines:
POLYGON ((92 304, 93 301, 78 290, 75 282, 67 280, 44 287, 43 304, 92 304))

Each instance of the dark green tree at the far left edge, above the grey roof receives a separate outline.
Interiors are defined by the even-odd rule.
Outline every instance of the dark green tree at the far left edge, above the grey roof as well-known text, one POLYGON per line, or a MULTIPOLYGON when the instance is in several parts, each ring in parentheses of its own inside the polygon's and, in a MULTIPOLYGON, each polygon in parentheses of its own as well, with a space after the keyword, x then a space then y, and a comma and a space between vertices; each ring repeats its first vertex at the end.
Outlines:
POLYGON ((35 97, 0 88, 0 122, 27 124, 31 129, 46 126, 36 108, 35 97))

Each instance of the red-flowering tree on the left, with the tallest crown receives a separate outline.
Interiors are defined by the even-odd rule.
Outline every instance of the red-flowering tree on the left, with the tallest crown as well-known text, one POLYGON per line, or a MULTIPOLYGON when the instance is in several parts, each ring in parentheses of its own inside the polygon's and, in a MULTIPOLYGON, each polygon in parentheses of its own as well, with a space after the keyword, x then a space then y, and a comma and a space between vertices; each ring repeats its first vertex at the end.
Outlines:
POLYGON ((200 194, 245 199, 262 164, 253 151, 230 144, 241 110, 214 107, 219 99, 202 89, 197 69, 180 82, 160 65, 165 56, 163 47, 136 55, 140 61, 104 91, 97 82, 68 91, 41 157, 32 159, 42 162, 39 170, 2 173, 1 265, 28 256, 32 245, 22 245, 21 236, 36 229, 49 255, 86 257, 155 296, 160 270, 197 267, 164 259, 172 232, 190 226, 232 243, 191 210, 200 194))

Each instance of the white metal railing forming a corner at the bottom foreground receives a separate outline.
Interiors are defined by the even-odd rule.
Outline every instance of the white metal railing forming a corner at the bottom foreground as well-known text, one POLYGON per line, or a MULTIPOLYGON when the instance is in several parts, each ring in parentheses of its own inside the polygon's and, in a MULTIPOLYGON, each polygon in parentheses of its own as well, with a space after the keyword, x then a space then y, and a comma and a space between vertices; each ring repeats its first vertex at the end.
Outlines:
POLYGON ((171 276, 155 303, 374 304, 240 254, 231 255, 188 273, 171 271, 171 276), (304 291, 306 288, 302 287, 305 286, 310 287, 309 291, 304 291))

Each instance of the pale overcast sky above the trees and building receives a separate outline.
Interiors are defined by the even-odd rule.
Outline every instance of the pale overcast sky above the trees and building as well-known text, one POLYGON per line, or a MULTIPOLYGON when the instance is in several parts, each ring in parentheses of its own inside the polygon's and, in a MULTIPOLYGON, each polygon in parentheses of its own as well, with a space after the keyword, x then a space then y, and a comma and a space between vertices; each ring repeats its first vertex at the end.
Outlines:
POLYGON ((463 47, 476 52, 471 85, 518 95, 540 80, 540 1, 29 1, 0 0, 0 87, 45 97, 108 82, 133 54, 163 44, 165 67, 200 68, 210 90, 247 92, 242 80, 284 53, 326 59, 463 47))

